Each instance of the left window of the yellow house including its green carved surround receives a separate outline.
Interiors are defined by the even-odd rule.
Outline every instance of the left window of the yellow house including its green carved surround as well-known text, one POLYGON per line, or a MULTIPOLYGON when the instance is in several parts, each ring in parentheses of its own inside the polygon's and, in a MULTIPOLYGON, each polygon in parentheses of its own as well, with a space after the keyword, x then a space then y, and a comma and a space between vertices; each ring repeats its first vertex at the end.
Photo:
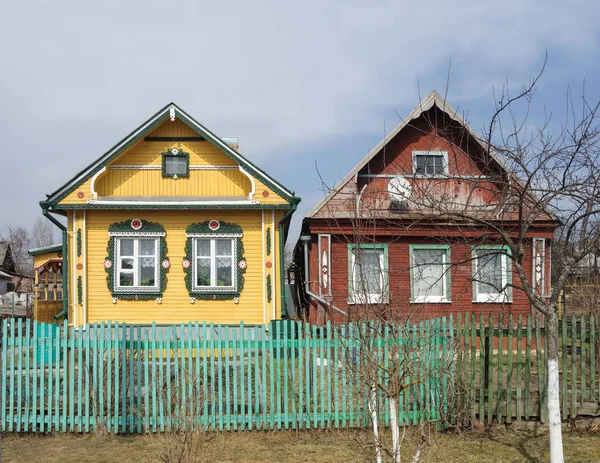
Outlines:
POLYGON ((113 223, 108 235, 104 270, 113 300, 162 299, 170 268, 165 228, 134 218, 113 223))

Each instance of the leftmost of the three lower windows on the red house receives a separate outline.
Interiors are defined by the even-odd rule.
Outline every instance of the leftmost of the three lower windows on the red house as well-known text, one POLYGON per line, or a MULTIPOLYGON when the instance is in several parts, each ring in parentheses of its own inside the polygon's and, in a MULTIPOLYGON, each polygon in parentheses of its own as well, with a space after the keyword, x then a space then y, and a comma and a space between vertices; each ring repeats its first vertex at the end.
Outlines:
POLYGON ((348 301, 387 303, 387 245, 348 245, 348 301))

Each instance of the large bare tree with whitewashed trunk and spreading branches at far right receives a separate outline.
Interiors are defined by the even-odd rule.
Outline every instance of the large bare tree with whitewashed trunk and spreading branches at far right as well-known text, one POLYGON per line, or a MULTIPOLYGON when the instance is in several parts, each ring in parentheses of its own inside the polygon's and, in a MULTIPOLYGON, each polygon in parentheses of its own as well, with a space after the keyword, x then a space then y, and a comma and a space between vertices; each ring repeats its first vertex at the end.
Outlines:
MULTIPOLYGON (((576 104, 568 92, 567 113, 560 125, 550 115, 534 123, 529 114, 540 77, 541 73, 516 94, 506 86, 495 95, 495 112, 485 137, 478 140, 487 154, 479 162, 490 174, 485 178, 461 179, 465 194, 458 197, 432 183, 417 188, 410 207, 416 220, 446 222, 462 229, 465 241, 493 239, 503 245, 472 259, 498 258, 512 263, 518 278, 499 282, 501 287, 495 292, 524 293, 545 318, 551 461, 558 463, 563 461, 558 302, 573 271, 587 256, 596 256, 600 251, 600 103, 590 103, 581 95, 576 104), (478 203, 477 198, 482 195, 494 199, 493 207, 478 203), (540 223, 553 221, 561 224, 552 240, 560 244, 560 252, 552 253, 555 273, 550 289, 544 283, 541 257, 546 248, 536 248, 532 236, 540 223), (480 232, 469 237, 467 231, 474 228, 480 232), (533 271, 527 267, 531 262, 533 271)), ((468 126, 459 129, 453 125, 453 120, 448 121, 448 131, 454 136, 476 137, 472 132, 466 133, 468 126)), ((463 258, 469 260, 469 256, 463 258)), ((490 285, 489 279, 478 281, 477 273, 474 279, 475 283, 490 285)))

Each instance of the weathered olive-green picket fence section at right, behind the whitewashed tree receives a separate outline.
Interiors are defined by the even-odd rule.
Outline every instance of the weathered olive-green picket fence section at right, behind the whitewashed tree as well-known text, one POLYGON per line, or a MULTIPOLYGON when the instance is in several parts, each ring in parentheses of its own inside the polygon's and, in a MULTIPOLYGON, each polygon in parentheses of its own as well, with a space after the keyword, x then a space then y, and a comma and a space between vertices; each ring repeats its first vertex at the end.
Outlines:
MULTIPOLYGON (((559 324, 561 414, 600 415, 600 337, 593 315, 559 324)), ((466 398, 463 422, 548 420, 547 333, 540 318, 459 314, 455 394, 466 398)))

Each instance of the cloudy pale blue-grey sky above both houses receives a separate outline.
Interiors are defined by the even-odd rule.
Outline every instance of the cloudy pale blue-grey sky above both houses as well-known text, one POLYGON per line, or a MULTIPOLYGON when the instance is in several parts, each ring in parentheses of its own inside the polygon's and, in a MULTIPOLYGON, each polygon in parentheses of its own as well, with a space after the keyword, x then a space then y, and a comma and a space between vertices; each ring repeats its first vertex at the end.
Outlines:
MULTIPOLYGON (((600 98, 595 1, 0 0, 0 223, 38 202, 170 101, 295 190, 304 213, 436 89, 476 130, 493 89, 537 73, 600 98), (449 64, 451 70, 448 73, 449 64)), ((58 235, 57 235, 58 236, 58 235)))

